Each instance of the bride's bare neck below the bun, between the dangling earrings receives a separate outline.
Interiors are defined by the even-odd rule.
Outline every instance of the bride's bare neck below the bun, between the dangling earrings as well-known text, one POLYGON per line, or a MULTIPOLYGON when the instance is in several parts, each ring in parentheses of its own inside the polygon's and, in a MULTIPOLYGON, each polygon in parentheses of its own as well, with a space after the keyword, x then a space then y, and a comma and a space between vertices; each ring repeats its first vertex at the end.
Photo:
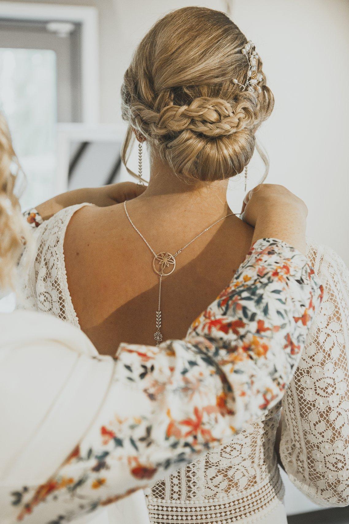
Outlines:
POLYGON ((158 156, 151 154, 149 185, 137 200, 147 200, 154 211, 166 206, 167 212, 171 214, 181 212, 183 216, 203 213, 210 220, 229 212, 227 187, 228 180, 187 182, 177 177, 158 156))

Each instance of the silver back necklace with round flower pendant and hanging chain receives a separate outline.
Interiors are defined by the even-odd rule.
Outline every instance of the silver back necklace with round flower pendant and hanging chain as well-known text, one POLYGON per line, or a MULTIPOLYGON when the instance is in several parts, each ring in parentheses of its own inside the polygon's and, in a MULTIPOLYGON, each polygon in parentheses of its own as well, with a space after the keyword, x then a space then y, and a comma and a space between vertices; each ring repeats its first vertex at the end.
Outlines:
POLYGON ((181 249, 178 249, 178 251, 174 255, 172 255, 171 253, 168 253, 168 251, 161 251, 160 253, 156 254, 154 249, 152 249, 152 247, 149 245, 149 243, 145 240, 145 238, 142 235, 142 233, 137 229, 137 227, 133 224, 132 220, 130 219, 130 215, 128 214, 128 211, 127 211, 127 208, 126 208, 126 201, 123 202, 123 207, 125 208, 125 213, 126 213, 126 216, 127 216, 128 220, 129 220, 131 226, 133 227, 134 230, 137 231, 139 236, 143 239, 145 244, 147 244, 147 246, 151 250, 152 254, 154 255, 153 264, 152 264, 153 265, 153 269, 154 269, 155 273, 157 273, 157 275, 159 275, 159 277, 160 277, 160 281, 159 281, 159 304, 158 304, 157 311, 156 311, 156 331, 154 333, 154 339, 155 339, 155 342, 156 342, 156 346, 159 346, 160 342, 162 341, 162 334, 161 334, 161 331, 160 331, 160 328, 161 328, 161 309, 160 309, 160 305, 161 305, 161 282, 162 282, 162 277, 167 277, 168 275, 171 275, 171 273, 173 273, 173 271, 175 270, 175 267, 176 267, 176 256, 179 255, 179 253, 182 253, 183 249, 185 249, 190 244, 192 244, 192 242, 194 242, 197 238, 199 238, 199 236, 201 236, 204 233, 206 233, 206 231, 211 229, 211 227, 213 227, 216 224, 218 224, 218 222, 221 222, 222 220, 226 219, 228 216, 234 215, 235 213, 229 213, 226 216, 222 216, 221 219, 216 220, 216 222, 213 222, 213 224, 211 224, 210 226, 206 227, 206 229, 204 231, 201 231, 201 233, 196 235, 196 237, 193 238, 190 242, 188 242, 188 244, 186 244, 185 246, 181 247, 181 249))

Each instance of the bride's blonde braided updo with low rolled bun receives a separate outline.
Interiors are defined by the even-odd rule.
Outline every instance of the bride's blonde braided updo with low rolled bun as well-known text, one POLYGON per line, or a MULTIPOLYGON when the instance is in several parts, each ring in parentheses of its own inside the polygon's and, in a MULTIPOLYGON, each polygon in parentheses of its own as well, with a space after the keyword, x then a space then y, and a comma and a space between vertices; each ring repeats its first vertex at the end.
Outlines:
POLYGON ((213 9, 184 7, 156 22, 123 78, 122 117, 130 124, 125 165, 134 128, 187 180, 212 182, 243 171, 256 129, 274 105, 260 58, 260 93, 233 82, 246 81, 246 43, 228 16, 213 9))

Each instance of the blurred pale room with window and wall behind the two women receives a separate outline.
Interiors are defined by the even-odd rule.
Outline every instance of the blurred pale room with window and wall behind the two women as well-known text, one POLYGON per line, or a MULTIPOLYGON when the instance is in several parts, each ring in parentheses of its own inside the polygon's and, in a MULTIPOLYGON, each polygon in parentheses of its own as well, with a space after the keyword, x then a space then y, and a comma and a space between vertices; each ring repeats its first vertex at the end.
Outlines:
MULTIPOLYGON (((125 125, 120 86, 133 49, 171 0, 0 2, 0 108, 28 177, 22 206, 83 186, 129 180, 120 162, 125 125)), ((211 0, 252 39, 275 95, 258 138, 267 181, 286 185, 309 209, 308 236, 349 265, 349 1, 211 0)), ((147 161, 143 161, 147 177, 147 161)), ((129 167, 137 169, 137 151, 129 167)), ((247 189, 263 175, 257 153, 247 189)), ((228 201, 239 212, 243 177, 228 201)), ((8 308, 0 304, 0 309, 8 308)), ((289 522, 349 523, 349 509, 321 510, 288 479, 289 522)))

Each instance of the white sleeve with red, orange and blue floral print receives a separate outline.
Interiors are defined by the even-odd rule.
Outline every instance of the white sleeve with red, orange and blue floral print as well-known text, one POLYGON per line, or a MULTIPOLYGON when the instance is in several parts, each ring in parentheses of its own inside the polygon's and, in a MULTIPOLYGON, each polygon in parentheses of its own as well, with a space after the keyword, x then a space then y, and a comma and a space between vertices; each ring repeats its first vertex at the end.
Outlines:
POLYGON ((234 438, 282 398, 321 299, 305 256, 257 241, 185 340, 120 345, 97 418, 44 485, 19 490, 17 520, 70 521, 234 438))

